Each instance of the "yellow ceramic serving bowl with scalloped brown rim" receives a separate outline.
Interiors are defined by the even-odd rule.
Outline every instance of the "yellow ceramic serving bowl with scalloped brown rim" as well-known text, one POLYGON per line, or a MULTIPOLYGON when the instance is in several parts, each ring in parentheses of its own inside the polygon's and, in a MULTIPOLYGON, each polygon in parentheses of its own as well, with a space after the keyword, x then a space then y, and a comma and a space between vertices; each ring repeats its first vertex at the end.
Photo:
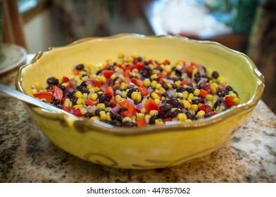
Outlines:
POLYGON ((119 34, 114 37, 81 39, 68 46, 51 48, 23 65, 16 88, 32 95, 30 85, 46 85, 48 77, 70 75, 79 63, 114 61, 120 51, 158 61, 193 61, 217 70, 239 92, 242 104, 219 115, 194 122, 170 122, 150 127, 113 127, 42 110, 26 104, 35 125, 54 144, 79 158, 130 169, 150 169, 180 165, 215 151, 230 141, 249 118, 263 94, 264 78, 243 53, 215 42, 197 42, 185 37, 146 37, 119 34))

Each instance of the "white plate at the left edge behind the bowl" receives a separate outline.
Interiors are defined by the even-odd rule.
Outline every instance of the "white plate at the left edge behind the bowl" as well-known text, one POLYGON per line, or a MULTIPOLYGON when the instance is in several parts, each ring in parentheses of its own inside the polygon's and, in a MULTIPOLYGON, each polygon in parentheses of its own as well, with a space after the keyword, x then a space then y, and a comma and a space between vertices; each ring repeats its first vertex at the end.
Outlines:
POLYGON ((27 52, 22 46, 3 43, 0 54, 0 74, 25 63, 26 55, 27 52))

